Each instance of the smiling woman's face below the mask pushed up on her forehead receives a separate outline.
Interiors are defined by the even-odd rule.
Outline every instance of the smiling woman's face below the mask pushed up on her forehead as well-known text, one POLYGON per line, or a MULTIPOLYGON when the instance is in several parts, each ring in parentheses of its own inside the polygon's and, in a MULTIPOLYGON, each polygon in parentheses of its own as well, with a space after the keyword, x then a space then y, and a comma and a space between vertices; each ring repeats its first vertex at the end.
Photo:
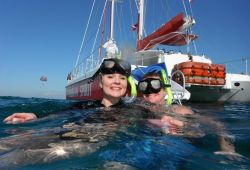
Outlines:
POLYGON ((100 87, 106 97, 114 99, 122 97, 127 91, 127 85, 127 77, 119 73, 101 76, 100 87))

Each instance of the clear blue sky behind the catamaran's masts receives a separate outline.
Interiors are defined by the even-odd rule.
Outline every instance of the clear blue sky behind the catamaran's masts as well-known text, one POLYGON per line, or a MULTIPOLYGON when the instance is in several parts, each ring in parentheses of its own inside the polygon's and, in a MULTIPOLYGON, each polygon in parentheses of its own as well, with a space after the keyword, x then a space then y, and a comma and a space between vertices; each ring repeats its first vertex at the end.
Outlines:
MULTIPOLYGON (((97 1, 95 17, 104 3, 97 1)), ((182 0, 168 0, 168 10, 157 10, 165 7, 162 1, 151 0, 159 2, 149 5, 156 9, 150 10, 152 16, 148 15, 145 21, 151 27, 157 25, 154 23, 157 20, 183 11, 182 0)), ((0 0, 0 96, 65 98, 66 77, 75 65, 92 2, 0 0), (40 81, 41 76, 47 76, 48 81, 40 81)), ((193 32, 199 36, 195 42, 198 53, 214 63, 238 60, 228 72, 244 72, 245 65, 240 59, 250 57, 250 1, 192 0, 191 6, 196 20, 193 32)), ((134 0, 118 3, 116 11, 119 11, 115 26, 118 46, 135 48, 136 35, 131 31, 137 18, 134 0)), ((96 18, 89 25, 88 35, 92 39, 99 20, 96 18)), ((85 46, 84 50, 90 48, 85 46)))

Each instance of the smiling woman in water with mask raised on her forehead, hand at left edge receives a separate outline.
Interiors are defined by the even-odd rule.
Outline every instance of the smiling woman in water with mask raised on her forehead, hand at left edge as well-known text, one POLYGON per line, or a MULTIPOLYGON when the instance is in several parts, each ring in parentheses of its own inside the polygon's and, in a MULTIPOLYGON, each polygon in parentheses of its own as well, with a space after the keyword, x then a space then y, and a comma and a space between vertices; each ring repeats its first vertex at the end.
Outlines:
MULTIPOLYGON (((131 66, 128 62, 119 59, 104 59, 99 70, 92 77, 100 75, 100 87, 103 89, 103 99, 97 104, 104 107, 112 107, 122 104, 121 97, 127 91, 128 77, 131 66)), ((34 113, 14 113, 4 119, 6 123, 24 123, 35 120, 38 116, 34 113)))

